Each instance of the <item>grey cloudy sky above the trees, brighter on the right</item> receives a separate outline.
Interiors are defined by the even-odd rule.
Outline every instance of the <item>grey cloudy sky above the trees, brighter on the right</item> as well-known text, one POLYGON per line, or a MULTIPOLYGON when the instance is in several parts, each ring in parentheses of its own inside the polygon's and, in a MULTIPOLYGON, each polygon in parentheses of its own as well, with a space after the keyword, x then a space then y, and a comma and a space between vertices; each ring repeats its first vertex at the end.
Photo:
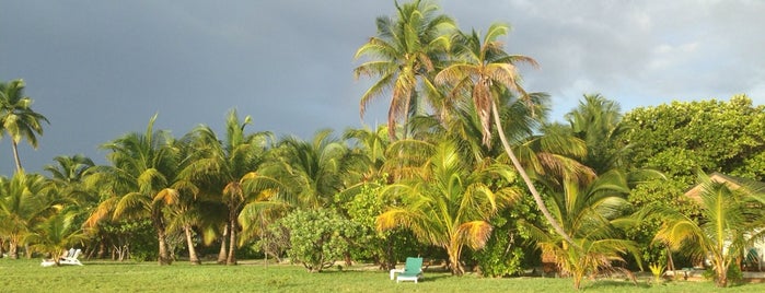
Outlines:
MULTIPOLYGON (((673 99, 728 99, 745 93, 765 104, 765 1, 439 2, 464 31, 510 23, 511 54, 525 87, 553 97, 561 120, 584 93, 624 110, 673 99)), ((375 34, 393 0, 3 0, 0 81, 23 78, 33 109, 50 125, 39 149, 21 149, 30 172, 56 155, 157 128, 176 137, 199 124, 222 129, 236 108, 252 130, 310 138, 316 130, 383 122, 386 99, 362 121, 356 49, 375 34)), ((8 138, 0 174, 11 174, 8 138)))

